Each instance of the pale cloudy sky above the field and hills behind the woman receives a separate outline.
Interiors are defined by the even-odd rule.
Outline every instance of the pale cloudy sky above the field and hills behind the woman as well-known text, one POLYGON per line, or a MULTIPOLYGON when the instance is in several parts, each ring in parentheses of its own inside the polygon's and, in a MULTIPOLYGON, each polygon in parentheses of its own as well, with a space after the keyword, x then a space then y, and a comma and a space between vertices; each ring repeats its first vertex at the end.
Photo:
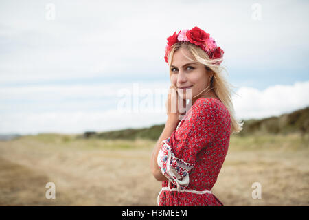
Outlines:
POLYGON ((236 118, 309 105, 308 1, 1 1, 0 133, 165 123, 168 36, 225 50, 236 118))

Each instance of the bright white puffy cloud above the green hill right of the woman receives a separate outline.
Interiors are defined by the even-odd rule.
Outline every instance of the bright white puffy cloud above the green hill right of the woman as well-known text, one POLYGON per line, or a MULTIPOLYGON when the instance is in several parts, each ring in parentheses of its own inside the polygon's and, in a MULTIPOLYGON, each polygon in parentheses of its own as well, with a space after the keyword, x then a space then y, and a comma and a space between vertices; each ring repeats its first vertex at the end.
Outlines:
POLYGON ((266 118, 309 106, 309 81, 293 85, 274 85, 259 91, 241 87, 233 96, 237 118, 266 118))

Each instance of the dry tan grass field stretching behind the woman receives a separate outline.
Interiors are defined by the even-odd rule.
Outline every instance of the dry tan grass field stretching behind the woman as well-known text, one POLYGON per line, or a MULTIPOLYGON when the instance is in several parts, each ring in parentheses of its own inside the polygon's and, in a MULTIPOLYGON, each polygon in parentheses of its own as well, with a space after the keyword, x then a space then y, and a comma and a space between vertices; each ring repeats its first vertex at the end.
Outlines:
MULTIPOLYGON (((151 140, 41 134, 0 142, 0 206, 157 206, 151 140), (46 199, 47 182, 56 199, 46 199)), ((225 206, 308 206, 308 137, 233 135, 212 189, 225 206), (253 199, 254 182, 262 199, 253 199)))

